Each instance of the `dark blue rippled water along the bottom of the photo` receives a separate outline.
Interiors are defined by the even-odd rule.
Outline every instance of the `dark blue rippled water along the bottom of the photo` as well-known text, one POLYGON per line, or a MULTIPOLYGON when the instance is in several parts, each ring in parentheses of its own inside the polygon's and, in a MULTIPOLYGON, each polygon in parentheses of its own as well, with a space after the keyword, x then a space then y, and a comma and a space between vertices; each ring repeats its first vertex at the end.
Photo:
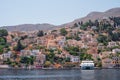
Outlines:
POLYGON ((120 80, 120 70, 0 69, 0 80, 120 80))

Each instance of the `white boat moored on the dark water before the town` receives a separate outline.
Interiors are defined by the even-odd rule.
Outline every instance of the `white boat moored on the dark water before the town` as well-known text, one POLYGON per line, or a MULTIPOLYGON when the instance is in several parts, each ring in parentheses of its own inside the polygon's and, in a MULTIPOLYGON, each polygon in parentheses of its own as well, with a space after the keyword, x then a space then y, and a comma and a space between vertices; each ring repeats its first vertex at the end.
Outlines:
POLYGON ((90 60, 85 60, 81 62, 80 66, 82 70, 93 70, 94 62, 90 60))

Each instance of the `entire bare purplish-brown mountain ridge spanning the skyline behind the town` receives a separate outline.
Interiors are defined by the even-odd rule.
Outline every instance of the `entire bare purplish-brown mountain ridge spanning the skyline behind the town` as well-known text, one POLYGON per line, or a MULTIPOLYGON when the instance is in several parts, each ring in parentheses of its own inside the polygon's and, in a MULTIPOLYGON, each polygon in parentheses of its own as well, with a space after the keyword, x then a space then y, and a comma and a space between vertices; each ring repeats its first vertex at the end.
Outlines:
POLYGON ((91 12, 87 16, 83 18, 76 19, 72 22, 65 23, 59 26, 51 25, 51 24, 21 24, 21 25, 15 25, 15 26, 4 26, 0 27, 3 29, 7 29, 8 31, 33 31, 33 30, 52 30, 56 27, 65 27, 65 26, 73 26, 74 23, 83 21, 86 22, 88 20, 94 21, 96 19, 103 19, 105 17, 118 17, 120 16, 120 8, 112 8, 105 12, 91 12))

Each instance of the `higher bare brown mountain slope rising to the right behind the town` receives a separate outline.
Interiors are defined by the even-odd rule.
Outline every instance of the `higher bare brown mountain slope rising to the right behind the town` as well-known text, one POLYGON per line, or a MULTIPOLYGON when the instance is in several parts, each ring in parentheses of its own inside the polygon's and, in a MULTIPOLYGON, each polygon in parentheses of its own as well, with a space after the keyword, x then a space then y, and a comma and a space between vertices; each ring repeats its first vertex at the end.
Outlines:
POLYGON ((96 19, 101 20, 103 18, 112 17, 112 16, 120 17, 120 8, 112 8, 112 9, 109 9, 105 12, 96 12, 96 11, 91 12, 83 18, 75 19, 74 21, 72 21, 70 23, 64 24, 64 26, 73 26, 74 23, 77 23, 80 21, 83 21, 83 22, 86 22, 88 20, 95 21, 96 19))

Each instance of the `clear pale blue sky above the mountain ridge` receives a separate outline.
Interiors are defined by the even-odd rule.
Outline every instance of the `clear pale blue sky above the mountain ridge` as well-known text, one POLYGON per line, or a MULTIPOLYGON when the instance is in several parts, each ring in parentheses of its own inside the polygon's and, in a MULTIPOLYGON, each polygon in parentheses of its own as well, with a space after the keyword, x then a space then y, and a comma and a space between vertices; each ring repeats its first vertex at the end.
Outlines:
POLYGON ((60 25, 92 11, 120 7, 120 0, 0 0, 0 26, 50 23, 60 25))

